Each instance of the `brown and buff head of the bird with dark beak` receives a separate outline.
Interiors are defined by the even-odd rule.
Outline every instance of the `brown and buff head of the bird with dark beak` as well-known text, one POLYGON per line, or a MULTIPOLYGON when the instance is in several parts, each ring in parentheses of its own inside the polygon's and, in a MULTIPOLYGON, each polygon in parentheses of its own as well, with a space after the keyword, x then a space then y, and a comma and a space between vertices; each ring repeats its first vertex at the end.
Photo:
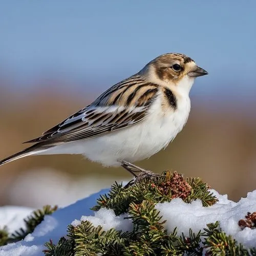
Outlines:
POLYGON ((196 62, 184 54, 166 53, 147 63, 141 73, 151 82, 163 86, 174 85, 188 92, 198 76, 208 72, 198 67, 196 62))

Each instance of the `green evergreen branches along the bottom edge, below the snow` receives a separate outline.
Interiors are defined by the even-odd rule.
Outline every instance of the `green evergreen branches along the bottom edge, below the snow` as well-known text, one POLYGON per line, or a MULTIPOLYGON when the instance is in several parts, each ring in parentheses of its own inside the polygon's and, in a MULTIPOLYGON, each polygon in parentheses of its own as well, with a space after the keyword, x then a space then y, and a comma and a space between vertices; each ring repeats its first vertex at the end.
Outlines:
POLYGON ((68 239, 62 237, 57 245, 52 241, 46 243, 45 255, 256 255, 255 248, 247 250, 221 231, 218 222, 208 224, 204 232, 195 234, 190 229, 189 236, 183 233, 178 236, 176 229, 167 234, 162 226, 164 221, 152 204, 143 202, 141 207, 134 205, 132 208, 131 219, 136 222, 132 232, 113 228, 104 231, 101 226, 94 227, 84 221, 77 227, 69 226, 68 239), (151 213, 153 219, 147 218, 151 213))

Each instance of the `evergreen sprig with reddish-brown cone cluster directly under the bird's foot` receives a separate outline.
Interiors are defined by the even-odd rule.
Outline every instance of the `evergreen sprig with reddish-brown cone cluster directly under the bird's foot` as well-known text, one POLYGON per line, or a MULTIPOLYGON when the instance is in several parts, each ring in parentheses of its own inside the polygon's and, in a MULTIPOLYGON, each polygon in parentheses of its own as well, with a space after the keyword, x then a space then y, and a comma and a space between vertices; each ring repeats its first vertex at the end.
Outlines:
POLYGON ((133 202, 140 204, 143 200, 152 203, 170 202, 173 198, 182 198, 190 203, 200 199, 204 206, 217 202, 217 198, 208 191, 208 185, 200 178, 184 180, 182 175, 174 172, 164 172, 154 180, 143 179, 130 187, 123 187, 115 183, 111 186, 108 195, 102 195, 97 199, 98 205, 92 210, 99 210, 101 207, 113 209, 116 215, 123 214, 129 209, 133 202))

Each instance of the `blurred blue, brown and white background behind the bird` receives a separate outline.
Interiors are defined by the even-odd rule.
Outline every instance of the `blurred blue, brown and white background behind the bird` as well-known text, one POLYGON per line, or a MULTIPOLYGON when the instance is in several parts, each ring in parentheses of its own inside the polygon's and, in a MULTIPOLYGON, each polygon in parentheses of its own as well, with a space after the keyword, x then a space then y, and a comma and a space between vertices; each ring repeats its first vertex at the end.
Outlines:
MULTIPOLYGON (((255 1, 1 1, 0 158, 22 150, 160 54, 184 53, 208 76, 172 144, 136 164, 201 177, 238 200, 256 188, 255 1)), ((64 206, 116 181, 122 168, 81 156, 0 167, 0 205, 64 206)))

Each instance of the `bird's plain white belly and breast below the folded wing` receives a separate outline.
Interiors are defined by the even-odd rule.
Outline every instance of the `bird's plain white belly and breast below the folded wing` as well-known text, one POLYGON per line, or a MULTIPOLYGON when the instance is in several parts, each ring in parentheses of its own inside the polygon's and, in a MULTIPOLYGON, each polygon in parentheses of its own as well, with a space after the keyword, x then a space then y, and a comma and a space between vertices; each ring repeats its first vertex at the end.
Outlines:
POLYGON ((65 143, 42 154, 82 154, 105 166, 120 165, 120 160, 142 160, 154 155, 175 138, 186 123, 189 111, 190 100, 187 96, 179 100, 176 111, 163 114, 159 97, 140 123, 104 136, 65 143))

